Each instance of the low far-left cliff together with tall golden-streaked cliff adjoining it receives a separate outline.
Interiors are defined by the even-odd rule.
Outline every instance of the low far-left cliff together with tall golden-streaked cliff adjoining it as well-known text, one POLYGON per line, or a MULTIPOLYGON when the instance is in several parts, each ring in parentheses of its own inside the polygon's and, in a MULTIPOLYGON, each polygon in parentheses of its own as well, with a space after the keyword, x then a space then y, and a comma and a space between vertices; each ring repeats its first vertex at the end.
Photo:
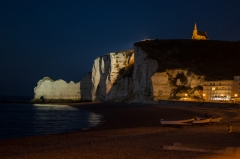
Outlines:
POLYGON ((96 58, 92 72, 76 84, 43 78, 34 88, 34 100, 124 101, 133 92, 133 68, 133 50, 112 52, 96 58))

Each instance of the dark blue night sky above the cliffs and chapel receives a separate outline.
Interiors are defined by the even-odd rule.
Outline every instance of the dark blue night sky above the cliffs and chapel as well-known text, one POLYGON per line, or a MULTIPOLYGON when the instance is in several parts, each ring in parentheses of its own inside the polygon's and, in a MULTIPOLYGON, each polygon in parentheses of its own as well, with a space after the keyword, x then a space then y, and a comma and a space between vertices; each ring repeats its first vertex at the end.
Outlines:
POLYGON ((30 95, 44 76, 80 81, 93 60, 144 38, 240 40, 239 0, 1 0, 0 94, 30 95))

